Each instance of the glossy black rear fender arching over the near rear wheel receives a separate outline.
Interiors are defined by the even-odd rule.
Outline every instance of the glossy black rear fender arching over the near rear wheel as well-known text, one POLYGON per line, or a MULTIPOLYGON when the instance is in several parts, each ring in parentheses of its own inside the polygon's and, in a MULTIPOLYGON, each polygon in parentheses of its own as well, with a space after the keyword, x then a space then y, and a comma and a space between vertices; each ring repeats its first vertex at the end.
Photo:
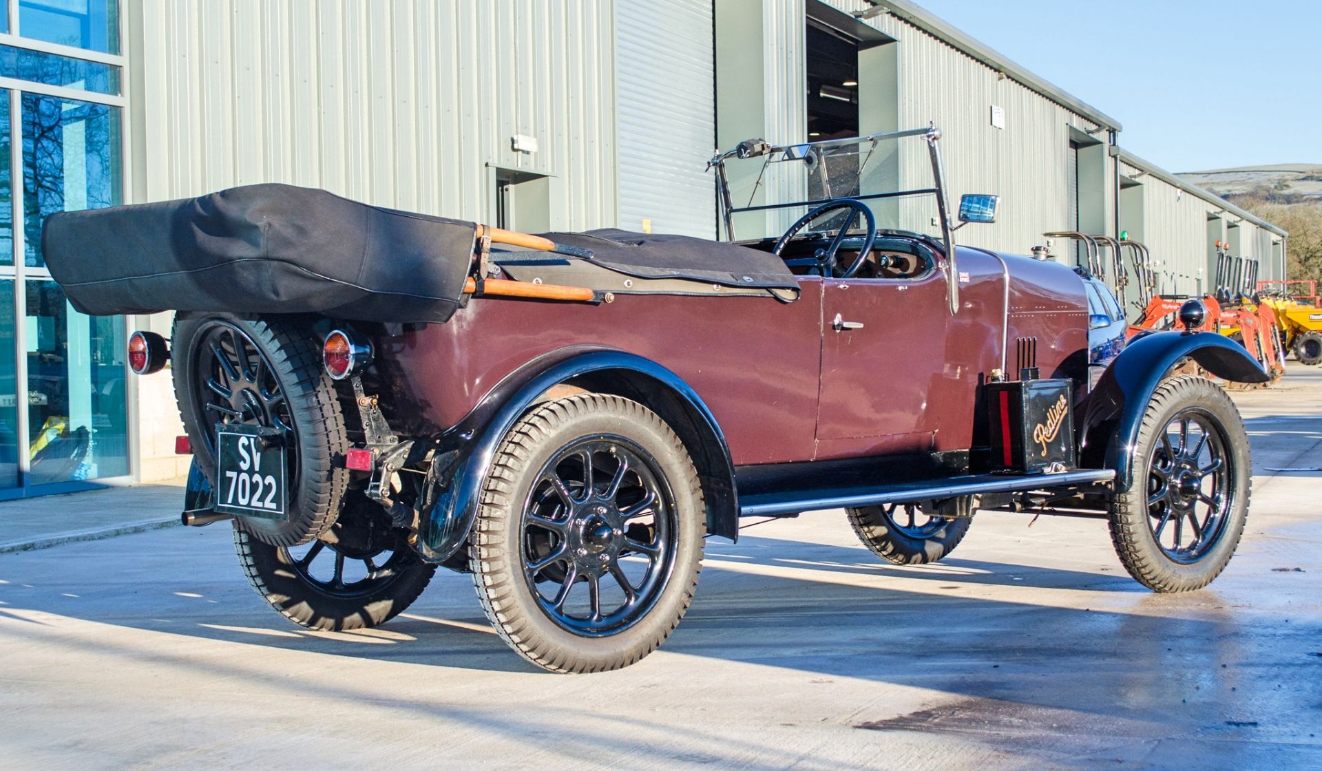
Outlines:
POLYGON ((442 436, 442 450, 457 451, 453 476, 430 510, 422 513, 418 553, 443 562, 468 540, 483 485, 500 442, 549 389, 583 384, 587 390, 620 393, 648 403, 685 440, 707 504, 707 532, 734 540, 739 507, 734 463, 724 434, 698 394, 660 364, 613 349, 568 348, 512 373, 442 436))

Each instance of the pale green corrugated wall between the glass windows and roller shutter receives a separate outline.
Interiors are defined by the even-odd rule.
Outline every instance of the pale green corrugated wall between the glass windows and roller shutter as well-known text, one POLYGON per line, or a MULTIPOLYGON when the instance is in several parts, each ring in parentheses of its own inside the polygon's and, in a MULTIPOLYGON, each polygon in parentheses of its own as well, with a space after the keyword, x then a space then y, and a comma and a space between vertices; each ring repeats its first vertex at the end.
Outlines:
POLYGON ((546 175, 551 223, 616 222, 613 3, 134 0, 136 200, 260 181, 494 216, 546 175), (513 148, 514 135, 537 152, 513 148))

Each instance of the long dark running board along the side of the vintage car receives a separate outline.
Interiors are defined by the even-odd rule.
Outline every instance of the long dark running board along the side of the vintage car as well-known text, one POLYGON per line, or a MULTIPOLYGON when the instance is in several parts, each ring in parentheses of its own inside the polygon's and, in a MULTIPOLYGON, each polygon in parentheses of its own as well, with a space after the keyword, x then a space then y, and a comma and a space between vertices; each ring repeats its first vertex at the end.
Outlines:
POLYGON ((740 517, 777 517, 800 512, 875 507, 878 504, 951 499, 993 492, 1051 489, 1110 481, 1110 468, 1087 468, 1063 473, 974 473, 945 479, 876 487, 768 491, 739 496, 740 517))

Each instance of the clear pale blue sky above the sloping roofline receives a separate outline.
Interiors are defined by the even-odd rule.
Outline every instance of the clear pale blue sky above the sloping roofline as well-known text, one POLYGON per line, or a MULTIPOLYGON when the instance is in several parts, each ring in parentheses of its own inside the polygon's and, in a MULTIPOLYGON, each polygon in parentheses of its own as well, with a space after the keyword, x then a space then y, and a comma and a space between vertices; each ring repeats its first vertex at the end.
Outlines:
POLYGON ((1322 164, 1319 0, 916 0, 1173 172, 1322 164))

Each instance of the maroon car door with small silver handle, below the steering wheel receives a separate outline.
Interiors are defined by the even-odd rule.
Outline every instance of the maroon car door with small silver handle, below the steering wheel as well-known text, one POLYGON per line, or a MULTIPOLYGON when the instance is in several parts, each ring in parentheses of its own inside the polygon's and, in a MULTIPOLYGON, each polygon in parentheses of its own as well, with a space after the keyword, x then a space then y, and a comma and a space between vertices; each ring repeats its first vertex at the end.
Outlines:
POLYGON ((825 280, 818 459, 933 447, 949 320, 941 271, 825 280))

